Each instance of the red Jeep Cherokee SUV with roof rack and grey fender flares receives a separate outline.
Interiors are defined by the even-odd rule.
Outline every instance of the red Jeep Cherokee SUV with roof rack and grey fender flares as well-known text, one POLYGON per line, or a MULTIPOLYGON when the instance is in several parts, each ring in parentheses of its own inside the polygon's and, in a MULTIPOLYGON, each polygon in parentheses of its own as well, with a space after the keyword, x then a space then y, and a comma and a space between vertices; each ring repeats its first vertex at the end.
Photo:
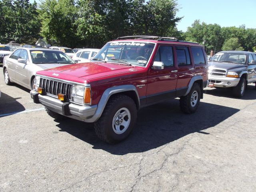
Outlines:
POLYGON ((184 113, 194 113, 208 85, 204 48, 176 38, 128 36, 108 42, 89 63, 36 73, 35 103, 53 118, 95 122, 109 143, 124 140, 137 110, 180 97, 184 113))

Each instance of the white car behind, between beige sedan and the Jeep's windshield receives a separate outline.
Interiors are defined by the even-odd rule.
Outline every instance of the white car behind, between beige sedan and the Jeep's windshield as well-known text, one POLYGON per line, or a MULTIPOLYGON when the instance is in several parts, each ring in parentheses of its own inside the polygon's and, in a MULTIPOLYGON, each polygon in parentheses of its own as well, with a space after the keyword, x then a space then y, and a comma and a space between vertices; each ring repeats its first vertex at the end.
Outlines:
POLYGON ((72 59, 78 63, 90 62, 94 55, 99 51, 100 49, 80 49, 72 59))

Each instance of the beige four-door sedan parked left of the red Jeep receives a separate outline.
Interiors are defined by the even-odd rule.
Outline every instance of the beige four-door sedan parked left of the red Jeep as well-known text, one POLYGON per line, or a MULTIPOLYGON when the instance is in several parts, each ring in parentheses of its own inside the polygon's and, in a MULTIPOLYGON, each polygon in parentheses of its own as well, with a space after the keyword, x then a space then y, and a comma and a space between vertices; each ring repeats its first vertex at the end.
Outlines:
POLYGON ((4 81, 7 85, 15 82, 31 89, 37 71, 74 63, 74 60, 59 50, 18 48, 4 58, 4 81))

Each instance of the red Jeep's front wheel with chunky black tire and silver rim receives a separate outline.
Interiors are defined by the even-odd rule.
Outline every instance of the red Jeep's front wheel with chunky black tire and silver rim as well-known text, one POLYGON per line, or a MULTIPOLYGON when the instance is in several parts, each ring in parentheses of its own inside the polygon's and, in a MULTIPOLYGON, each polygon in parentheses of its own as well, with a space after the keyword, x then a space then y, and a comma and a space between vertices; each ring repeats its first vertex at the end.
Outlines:
POLYGON ((126 95, 110 98, 101 117, 94 123, 96 135, 110 144, 128 137, 136 122, 137 108, 134 100, 126 95))

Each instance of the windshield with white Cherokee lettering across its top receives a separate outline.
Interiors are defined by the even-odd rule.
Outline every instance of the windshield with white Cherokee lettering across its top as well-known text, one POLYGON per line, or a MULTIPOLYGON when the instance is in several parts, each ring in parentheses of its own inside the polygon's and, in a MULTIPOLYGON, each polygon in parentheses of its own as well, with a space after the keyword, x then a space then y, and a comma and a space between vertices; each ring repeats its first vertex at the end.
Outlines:
POLYGON ((146 66, 154 43, 125 41, 107 43, 92 60, 146 66))

